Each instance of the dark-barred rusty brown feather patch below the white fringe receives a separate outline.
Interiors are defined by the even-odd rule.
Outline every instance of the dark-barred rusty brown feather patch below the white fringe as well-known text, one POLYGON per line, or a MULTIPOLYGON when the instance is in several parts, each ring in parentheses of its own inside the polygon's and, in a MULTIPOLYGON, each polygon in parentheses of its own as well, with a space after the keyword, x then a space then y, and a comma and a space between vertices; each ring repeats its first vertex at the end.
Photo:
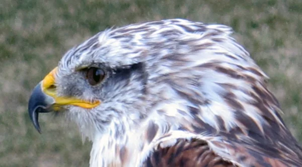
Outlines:
POLYGON ((231 167, 236 165, 216 155, 202 140, 178 139, 175 145, 153 152, 143 166, 231 167))

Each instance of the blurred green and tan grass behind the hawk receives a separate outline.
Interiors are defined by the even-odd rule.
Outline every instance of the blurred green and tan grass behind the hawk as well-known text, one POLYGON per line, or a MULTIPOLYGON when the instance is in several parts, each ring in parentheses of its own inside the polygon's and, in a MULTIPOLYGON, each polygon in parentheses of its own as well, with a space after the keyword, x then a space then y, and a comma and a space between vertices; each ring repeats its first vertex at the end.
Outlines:
POLYGON ((33 87, 72 46, 112 26, 169 18, 220 23, 270 76, 292 133, 302 141, 300 0, 1 0, 0 166, 88 166, 91 143, 73 123, 41 114, 30 122, 33 87))

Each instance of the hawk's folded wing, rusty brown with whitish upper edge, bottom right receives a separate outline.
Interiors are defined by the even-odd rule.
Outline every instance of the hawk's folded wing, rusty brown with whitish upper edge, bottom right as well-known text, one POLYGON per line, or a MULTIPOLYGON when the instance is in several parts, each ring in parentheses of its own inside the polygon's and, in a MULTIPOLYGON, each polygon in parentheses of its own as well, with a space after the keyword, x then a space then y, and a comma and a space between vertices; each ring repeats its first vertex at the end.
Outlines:
POLYGON ((172 132, 160 138, 142 166, 302 166, 297 155, 251 141, 223 136, 201 136, 172 132), (173 134, 175 133, 175 134, 173 134))

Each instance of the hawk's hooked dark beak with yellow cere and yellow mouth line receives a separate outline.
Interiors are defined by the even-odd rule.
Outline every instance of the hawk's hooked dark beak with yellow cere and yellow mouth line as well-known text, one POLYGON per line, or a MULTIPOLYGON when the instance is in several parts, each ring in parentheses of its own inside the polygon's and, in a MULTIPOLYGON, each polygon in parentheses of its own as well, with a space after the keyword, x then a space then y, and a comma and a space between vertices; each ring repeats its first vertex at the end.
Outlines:
POLYGON ((35 86, 28 102, 28 113, 38 132, 41 132, 38 122, 40 112, 58 111, 63 105, 75 105, 82 108, 94 108, 101 102, 99 100, 87 101, 74 97, 57 96, 55 76, 57 67, 35 86))

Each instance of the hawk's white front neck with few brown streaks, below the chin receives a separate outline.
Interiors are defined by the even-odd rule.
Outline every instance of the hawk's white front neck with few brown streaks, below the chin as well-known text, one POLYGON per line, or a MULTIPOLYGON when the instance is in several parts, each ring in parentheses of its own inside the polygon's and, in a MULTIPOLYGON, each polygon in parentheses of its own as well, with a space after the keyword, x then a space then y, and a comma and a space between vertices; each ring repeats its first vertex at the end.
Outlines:
POLYGON ((139 166, 163 134, 178 128, 163 117, 153 119, 160 117, 150 116, 139 126, 126 119, 113 120, 107 132, 96 133, 93 139, 90 167, 139 166))

